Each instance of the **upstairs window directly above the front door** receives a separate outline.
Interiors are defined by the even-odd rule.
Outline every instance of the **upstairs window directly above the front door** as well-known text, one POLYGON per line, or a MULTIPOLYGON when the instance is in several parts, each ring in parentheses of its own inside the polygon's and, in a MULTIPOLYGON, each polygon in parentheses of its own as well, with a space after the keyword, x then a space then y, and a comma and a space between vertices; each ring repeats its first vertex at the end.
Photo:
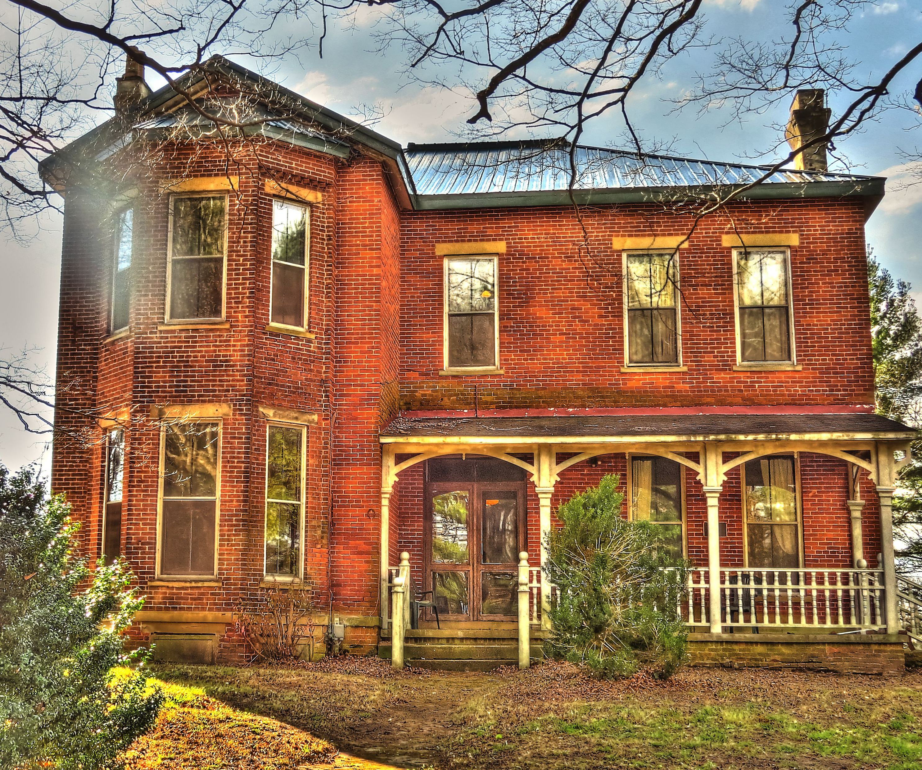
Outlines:
POLYGON ((499 297, 495 256, 445 259, 445 368, 495 369, 499 297))

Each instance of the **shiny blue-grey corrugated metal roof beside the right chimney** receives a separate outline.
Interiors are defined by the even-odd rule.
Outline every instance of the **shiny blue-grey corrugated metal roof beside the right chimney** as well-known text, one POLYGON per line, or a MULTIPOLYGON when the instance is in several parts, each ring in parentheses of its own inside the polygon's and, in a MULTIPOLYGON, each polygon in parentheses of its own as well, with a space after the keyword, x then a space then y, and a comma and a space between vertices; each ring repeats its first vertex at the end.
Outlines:
MULTIPOLYGON (((570 151, 541 142, 410 145, 405 151, 419 195, 470 195, 565 191, 570 186, 570 151)), ((671 158, 615 149, 578 147, 577 190, 749 184, 766 166, 671 158)), ((777 171, 766 184, 852 182, 854 174, 777 171)))

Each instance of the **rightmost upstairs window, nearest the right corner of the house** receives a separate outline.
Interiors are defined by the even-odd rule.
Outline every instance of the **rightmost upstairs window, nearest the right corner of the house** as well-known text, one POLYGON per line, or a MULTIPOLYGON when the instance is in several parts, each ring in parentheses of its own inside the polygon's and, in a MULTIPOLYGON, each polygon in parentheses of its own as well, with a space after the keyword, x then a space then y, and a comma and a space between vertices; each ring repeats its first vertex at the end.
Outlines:
POLYGON ((793 361, 786 249, 737 249, 740 363, 793 361))

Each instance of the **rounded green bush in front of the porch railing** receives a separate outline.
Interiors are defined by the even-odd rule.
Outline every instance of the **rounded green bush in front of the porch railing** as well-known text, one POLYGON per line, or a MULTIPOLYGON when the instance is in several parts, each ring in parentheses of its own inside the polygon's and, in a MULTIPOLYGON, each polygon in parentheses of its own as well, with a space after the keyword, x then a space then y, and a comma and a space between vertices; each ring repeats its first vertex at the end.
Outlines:
POLYGON ((671 557, 649 521, 621 518, 618 476, 575 494, 547 536, 550 651, 602 678, 646 669, 667 679, 688 657, 679 616, 687 564, 671 557))

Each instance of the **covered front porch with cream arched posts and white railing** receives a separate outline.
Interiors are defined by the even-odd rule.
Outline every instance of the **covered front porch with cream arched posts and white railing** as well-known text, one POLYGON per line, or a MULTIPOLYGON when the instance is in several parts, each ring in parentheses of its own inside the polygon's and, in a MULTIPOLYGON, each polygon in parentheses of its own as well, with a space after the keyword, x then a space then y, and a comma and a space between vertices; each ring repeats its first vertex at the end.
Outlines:
POLYGON ((913 435, 858 411, 398 418, 381 436, 383 634, 399 575, 436 605, 421 629, 439 610, 443 628, 547 632, 552 511, 608 473, 624 514, 692 563, 692 633, 898 634, 892 492, 913 435))

